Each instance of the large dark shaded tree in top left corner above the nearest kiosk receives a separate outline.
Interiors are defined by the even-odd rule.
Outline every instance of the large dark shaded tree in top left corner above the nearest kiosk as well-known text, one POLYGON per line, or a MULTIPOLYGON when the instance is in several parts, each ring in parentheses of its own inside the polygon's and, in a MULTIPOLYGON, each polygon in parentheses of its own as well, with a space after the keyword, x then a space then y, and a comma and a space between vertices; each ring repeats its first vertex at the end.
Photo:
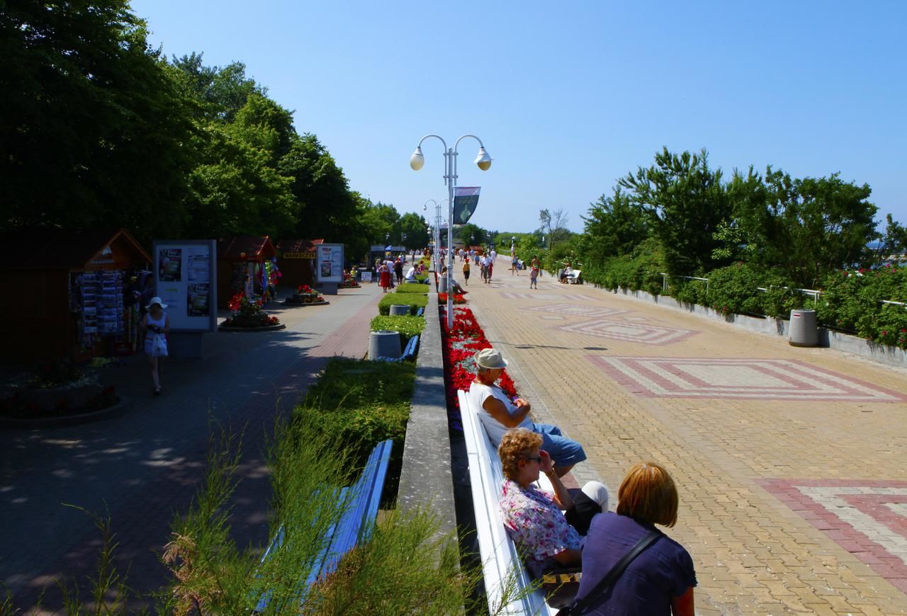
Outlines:
POLYGON ((191 101, 125 0, 0 10, 0 228, 179 236, 191 101))

